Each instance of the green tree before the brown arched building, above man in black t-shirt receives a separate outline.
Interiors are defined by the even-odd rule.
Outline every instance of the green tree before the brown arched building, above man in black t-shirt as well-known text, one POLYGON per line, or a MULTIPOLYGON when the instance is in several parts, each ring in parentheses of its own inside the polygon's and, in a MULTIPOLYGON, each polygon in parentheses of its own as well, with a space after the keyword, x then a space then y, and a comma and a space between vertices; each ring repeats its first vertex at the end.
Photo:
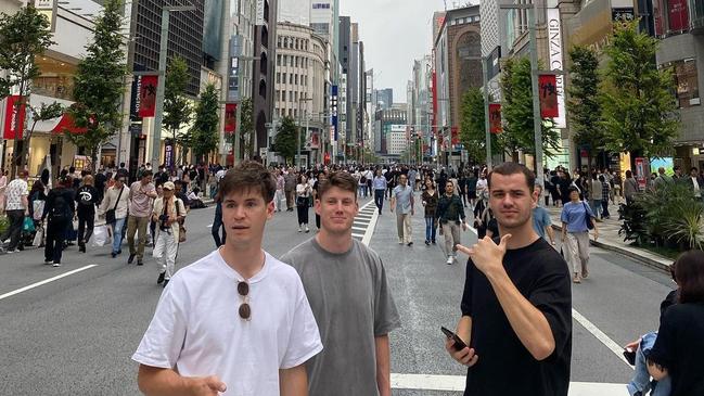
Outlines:
MULTIPOLYGON (((485 105, 484 93, 478 88, 471 88, 462 97, 460 141, 471 161, 477 164, 486 162, 485 105)), ((491 153, 501 152, 496 135, 491 133, 491 153)))

